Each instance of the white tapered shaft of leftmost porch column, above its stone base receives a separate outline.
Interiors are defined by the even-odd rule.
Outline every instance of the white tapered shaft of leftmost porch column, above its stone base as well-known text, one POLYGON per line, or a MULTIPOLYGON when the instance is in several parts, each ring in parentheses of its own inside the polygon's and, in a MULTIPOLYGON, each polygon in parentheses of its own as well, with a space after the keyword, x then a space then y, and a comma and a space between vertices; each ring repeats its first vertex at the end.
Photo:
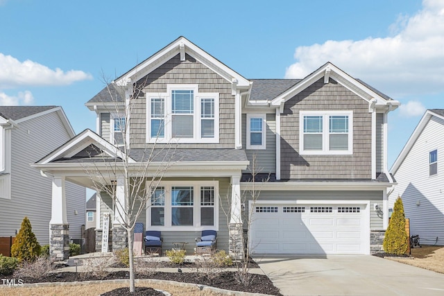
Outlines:
POLYGON ((49 224, 68 224, 65 177, 53 177, 51 221, 49 221, 49 224))

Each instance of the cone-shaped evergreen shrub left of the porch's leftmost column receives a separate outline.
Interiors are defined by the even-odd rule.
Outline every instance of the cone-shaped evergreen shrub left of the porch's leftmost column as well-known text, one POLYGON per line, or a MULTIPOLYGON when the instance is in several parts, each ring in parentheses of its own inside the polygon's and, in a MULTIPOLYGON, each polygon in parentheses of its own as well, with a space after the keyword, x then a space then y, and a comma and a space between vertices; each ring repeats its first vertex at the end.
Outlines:
POLYGON ((35 261, 40 256, 40 243, 33 233, 33 227, 28 217, 22 221, 20 231, 15 237, 15 243, 11 247, 11 256, 19 261, 35 261))

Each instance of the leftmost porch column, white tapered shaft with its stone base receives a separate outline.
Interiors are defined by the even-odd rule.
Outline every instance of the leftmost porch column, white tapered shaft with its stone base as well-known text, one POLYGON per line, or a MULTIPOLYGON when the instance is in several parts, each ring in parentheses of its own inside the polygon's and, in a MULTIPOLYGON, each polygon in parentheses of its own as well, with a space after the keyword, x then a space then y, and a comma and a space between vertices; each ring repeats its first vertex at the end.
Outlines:
POLYGON ((49 256, 52 261, 69 258, 69 225, 65 177, 53 177, 51 220, 49 221, 49 256))

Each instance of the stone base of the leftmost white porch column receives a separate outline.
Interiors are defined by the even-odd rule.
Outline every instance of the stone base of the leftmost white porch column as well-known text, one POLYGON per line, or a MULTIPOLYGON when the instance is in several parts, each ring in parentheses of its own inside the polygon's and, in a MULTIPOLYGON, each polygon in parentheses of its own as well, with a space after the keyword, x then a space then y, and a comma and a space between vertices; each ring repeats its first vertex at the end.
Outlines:
POLYGON ((49 231, 49 258, 63 261, 69 258, 69 225, 51 224, 49 231))

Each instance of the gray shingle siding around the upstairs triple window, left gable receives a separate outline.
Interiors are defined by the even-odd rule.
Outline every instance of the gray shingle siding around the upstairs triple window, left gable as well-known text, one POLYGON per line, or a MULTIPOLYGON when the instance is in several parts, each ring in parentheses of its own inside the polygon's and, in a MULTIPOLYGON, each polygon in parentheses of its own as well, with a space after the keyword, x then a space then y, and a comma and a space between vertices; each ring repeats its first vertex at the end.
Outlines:
MULTIPOLYGON (((234 148, 234 96, 231 83, 217 73, 186 55, 180 62, 176 55, 168 62, 139 80, 144 92, 165 93, 168 84, 197 84, 199 92, 219 93, 219 143, 179 144, 178 148, 234 148)), ((145 148, 146 144, 146 98, 139 96, 130 119, 130 143, 132 148, 145 148)), ((160 144, 157 144, 159 146, 160 144)))

